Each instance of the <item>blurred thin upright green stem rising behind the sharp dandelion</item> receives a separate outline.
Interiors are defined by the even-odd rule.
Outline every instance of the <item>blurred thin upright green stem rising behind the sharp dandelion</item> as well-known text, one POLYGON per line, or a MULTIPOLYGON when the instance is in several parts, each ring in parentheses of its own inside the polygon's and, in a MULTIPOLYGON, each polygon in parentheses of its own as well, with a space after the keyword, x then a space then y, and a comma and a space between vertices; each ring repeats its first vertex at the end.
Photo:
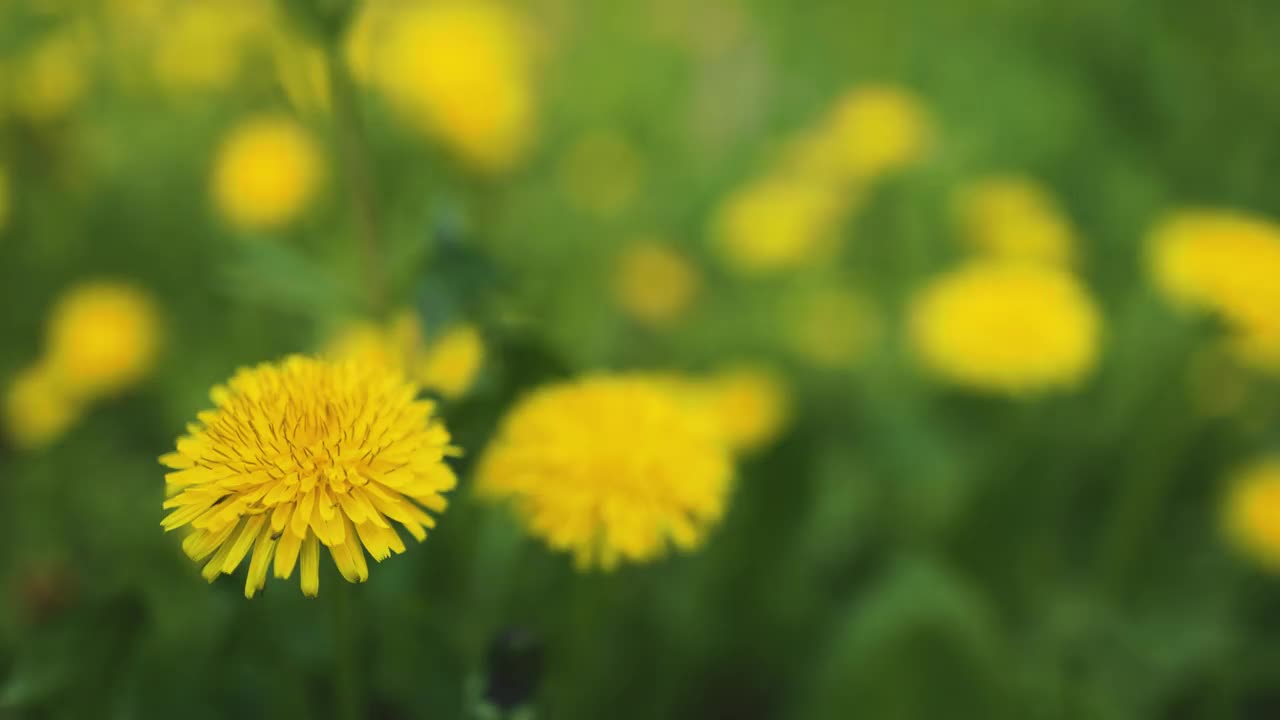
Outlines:
POLYGON ((346 170, 356 233, 360 237, 365 293, 370 310, 376 313, 383 309, 385 300, 385 278, 381 246, 379 243, 375 200, 378 193, 374 188, 369 142, 360 115, 356 83, 347 69, 338 40, 328 44, 326 60, 333 114, 338 127, 339 152, 342 154, 340 161, 346 170))

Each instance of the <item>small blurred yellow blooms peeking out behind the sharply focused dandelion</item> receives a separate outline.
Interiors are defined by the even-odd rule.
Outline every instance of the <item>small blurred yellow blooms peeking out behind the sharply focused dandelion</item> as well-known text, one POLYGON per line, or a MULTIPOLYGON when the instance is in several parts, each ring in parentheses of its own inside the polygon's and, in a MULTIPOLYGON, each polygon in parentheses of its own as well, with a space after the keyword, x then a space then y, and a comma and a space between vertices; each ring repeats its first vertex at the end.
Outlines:
POLYGON ((424 389, 454 400, 475 384, 485 347, 480 331, 467 323, 448 327, 428 342, 417 313, 401 310, 385 324, 347 324, 330 340, 325 354, 403 373, 424 389))

